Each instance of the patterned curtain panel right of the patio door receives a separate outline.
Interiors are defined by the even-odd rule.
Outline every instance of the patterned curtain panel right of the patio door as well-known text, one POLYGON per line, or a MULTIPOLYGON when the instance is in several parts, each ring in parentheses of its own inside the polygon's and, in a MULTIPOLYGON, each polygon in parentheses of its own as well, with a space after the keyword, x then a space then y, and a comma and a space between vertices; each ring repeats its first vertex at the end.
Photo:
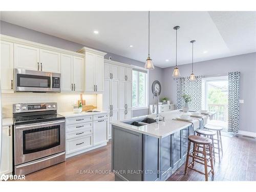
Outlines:
POLYGON ((228 131, 238 133, 240 72, 228 73, 228 131))

